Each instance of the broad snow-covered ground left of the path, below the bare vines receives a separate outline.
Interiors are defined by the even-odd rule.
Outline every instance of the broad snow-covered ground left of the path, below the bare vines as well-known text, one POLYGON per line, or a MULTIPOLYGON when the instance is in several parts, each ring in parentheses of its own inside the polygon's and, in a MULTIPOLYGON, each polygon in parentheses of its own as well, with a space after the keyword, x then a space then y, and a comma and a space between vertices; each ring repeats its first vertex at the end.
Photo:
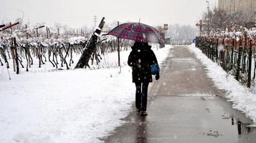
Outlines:
MULTIPOLYGON (((159 63, 170 48, 153 47, 159 63)), ((121 52, 121 73, 111 66, 57 71, 49 62, 37 68, 35 59, 29 72, 17 75, 9 60, 9 80, 0 66, 0 142, 101 142, 124 123, 120 119, 135 101, 132 70, 125 65, 129 53, 121 52)), ((117 53, 103 56, 100 64, 116 65, 117 53)))

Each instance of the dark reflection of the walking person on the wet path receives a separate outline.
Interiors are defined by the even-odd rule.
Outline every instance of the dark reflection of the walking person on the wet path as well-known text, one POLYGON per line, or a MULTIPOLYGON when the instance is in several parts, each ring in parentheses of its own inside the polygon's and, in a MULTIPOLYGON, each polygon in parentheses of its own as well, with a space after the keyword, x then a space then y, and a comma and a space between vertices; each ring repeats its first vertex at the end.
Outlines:
POLYGON ((136 129, 137 129, 137 143, 146 143, 147 142, 147 121, 146 116, 137 117, 136 122, 136 129))

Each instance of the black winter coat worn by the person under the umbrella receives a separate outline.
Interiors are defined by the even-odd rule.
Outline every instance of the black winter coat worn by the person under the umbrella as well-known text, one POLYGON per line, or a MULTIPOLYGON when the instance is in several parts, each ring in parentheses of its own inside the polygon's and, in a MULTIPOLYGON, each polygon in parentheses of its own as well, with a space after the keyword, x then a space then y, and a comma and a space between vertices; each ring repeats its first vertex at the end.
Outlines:
POLYGON ((128 58, 132 67, 132 82, 152 82, 151 65, 157 64, 156 55, 147 43, 134 44, 128 58))

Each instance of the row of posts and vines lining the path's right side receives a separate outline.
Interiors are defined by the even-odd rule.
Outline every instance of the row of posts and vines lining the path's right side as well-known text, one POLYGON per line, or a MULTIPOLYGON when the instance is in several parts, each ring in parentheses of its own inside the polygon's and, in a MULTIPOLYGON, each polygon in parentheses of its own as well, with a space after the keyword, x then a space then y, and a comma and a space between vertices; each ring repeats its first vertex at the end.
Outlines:
MULTIPOLYGON (((227 37, 196 37, 196 47, 220 65, 223 70, 235 76, 236 80, 247 87, 251 87, 252 79, 255 79, 255 49, 254 39, 246 37, 239 39, 227 37), (252 56, 254 61, 252 61, 252 56), (254 62, 254 65, 252 63, 254 62), (253 72, 253 77, 251 73, 253 72)), ((253 82, 254 83, 254 82, 253 82)))

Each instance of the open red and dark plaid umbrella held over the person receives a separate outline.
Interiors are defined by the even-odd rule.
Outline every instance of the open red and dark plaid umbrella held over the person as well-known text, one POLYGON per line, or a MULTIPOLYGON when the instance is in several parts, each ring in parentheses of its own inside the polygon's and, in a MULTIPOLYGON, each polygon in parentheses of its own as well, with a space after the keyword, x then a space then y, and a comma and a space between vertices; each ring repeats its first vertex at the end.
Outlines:
POLYGON ((117 38, 130 39, 142 43, 165 43, 155 28, 138 22, 123 23, 115 27, 108 34, 117 38))

